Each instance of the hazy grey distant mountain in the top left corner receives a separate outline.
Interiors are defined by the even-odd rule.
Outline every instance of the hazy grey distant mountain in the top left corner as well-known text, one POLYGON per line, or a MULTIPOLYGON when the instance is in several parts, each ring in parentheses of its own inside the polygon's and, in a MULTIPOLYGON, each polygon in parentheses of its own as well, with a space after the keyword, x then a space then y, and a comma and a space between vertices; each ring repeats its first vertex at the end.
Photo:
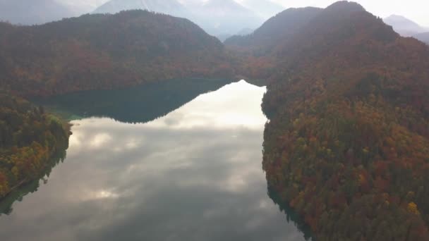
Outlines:
POLYGON ((42 24, 74 15, 55 0, 0 0, 0 20, 13 24, 42 24))

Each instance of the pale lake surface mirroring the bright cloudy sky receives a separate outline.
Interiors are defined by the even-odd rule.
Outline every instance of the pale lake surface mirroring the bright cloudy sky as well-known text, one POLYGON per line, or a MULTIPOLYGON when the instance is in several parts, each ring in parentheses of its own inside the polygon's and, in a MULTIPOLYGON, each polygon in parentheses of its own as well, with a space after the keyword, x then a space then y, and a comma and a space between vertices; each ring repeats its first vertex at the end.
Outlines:
POLYGON ((145 115, 131 103, 137 97, 105 112, 95 113, 92 101, 75 109, 87 117, 72 121, 66 158, 29 187, 37 191, 11 202, 0 216, 0 240, 308 239, 267 193, 265 87, 222 85, 180 103, 165 89, 169 104, 145 100, 162 113, 145 115), (121 118, 125 108, 135 113, 121 118))

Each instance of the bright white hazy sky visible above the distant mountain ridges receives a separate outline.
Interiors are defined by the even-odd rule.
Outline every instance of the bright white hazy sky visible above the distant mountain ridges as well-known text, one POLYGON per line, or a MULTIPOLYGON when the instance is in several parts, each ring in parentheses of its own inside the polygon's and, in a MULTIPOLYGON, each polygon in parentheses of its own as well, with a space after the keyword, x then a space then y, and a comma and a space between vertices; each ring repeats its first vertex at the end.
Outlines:
MULTIPOLYGON (((75 6, 81 11, 92 11, 95 7, 108 0, 56 0, 75 6)), ((162 1, 162 0, 161 0, 162 1)), ((189 0, 181 0, 189 1, 189 0)), ((204 0, 201 0, 204 1, 204 0)), ((237 0, 242 1, 242 0, 237 0)), ((282 4, 285 8, 318 6, 326 7, 337 0, 272 0, 282 4)), ((405 16, 420 25, 429 27, 429 1, 428 0, 357 0, 367 11, 382 18, 391 14, 405 16)))

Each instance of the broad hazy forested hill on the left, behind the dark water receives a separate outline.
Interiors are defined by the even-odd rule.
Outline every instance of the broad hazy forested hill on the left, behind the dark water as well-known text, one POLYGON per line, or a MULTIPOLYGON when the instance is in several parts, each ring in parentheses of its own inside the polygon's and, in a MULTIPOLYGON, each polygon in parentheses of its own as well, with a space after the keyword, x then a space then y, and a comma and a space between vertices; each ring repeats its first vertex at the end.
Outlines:
POLYGON ((0 31, 0 85, 23 95, 233 74, 219 40, 189 20, 148 11, 2 23, 0 31))

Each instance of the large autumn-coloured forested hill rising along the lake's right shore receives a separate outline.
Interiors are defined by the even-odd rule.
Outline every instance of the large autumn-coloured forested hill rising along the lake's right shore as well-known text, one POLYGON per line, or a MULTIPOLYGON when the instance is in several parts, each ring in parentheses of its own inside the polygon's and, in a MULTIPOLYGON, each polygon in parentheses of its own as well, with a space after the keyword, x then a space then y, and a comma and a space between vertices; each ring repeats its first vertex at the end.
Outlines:
POLYGON ((270 187, 318 240, 429 240, 429 47, 342 1, 274 52, 270 187))

